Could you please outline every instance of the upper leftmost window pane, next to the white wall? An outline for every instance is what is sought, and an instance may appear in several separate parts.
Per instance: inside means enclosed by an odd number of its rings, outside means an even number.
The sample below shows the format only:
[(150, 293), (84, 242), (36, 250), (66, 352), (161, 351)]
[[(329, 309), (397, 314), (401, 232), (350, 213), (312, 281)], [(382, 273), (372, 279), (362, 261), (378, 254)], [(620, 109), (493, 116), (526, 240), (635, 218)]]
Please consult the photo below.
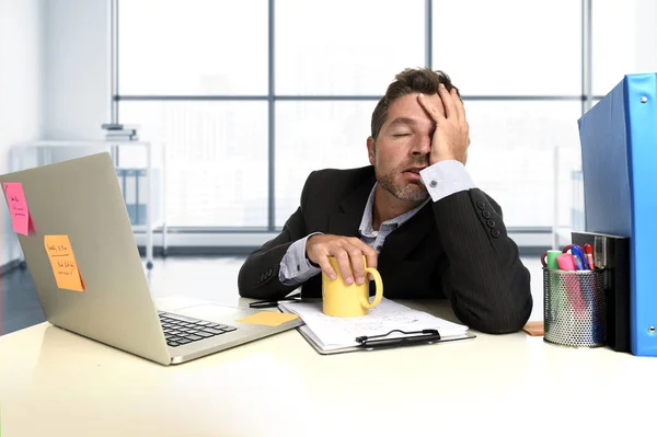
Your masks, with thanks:
[(119, 94), (267, 93), (267, 0), (129, 0), (118, 14)]

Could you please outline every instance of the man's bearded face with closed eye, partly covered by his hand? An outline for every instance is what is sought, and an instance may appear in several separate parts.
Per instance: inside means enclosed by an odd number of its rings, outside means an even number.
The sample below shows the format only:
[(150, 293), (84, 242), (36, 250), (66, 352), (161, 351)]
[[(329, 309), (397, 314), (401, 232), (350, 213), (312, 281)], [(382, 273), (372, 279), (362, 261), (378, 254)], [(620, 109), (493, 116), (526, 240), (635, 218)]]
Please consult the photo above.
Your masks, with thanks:
[[(419, 171), (429, 165), (431, 138), (436, 123), (417, 101), (417, 93), (395, 100), (388, 108), (388, 118), (379, 137), (368, 138), (369, 161), (374, 165), (377, 181), (394, 197), (422, 202), (428, 197)], [(442, 105), (439, 111), (445, 115)]]

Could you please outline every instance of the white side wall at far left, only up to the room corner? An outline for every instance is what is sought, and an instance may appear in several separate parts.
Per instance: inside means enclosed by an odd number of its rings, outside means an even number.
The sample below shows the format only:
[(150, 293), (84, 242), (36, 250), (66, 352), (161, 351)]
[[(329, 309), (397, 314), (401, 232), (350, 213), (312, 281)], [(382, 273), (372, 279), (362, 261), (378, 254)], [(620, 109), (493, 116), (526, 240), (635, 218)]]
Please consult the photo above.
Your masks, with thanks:
[[(0, 0), (0, 172), (13, 145), (39, 139), (44, 108), (45, 0)], [(4, 199), (0, 264), (19, 253)], [(12, 256), (13, 254), (13, 256)]]

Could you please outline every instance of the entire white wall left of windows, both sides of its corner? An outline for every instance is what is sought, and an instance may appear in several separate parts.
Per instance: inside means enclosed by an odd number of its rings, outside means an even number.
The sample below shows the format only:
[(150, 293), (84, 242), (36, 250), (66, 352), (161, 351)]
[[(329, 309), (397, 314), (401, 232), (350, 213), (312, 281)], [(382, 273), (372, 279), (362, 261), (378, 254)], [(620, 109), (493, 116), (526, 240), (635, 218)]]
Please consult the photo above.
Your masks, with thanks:
[[(101, 124), (111, 117), (110, 30), (111, 0), (0, 0), (0, 173), (9, 171), (14, 145), (103, 137)], [(54, 159), (87, 152), (61, 150)], [(1, 204), (5, 264), (20, 246)]]

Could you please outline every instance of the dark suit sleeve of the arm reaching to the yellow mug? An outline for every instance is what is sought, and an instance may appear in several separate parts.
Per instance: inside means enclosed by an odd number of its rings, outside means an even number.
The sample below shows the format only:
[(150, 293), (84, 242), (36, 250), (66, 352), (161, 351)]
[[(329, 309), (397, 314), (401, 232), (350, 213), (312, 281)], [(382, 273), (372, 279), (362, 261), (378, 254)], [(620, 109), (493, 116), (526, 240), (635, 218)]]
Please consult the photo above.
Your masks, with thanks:
[(290, 216), (281, 232), (262, 248), (252, 252), (238, 275), (238, 289), (241, 297), (255, 299), (280, 299), (298, 285), (284, 285), (279, 279), (280, 263), (290, 245), (308, 237), (303, 205), (308, 197), (309, 180), (301, 192), (301, 206)]

